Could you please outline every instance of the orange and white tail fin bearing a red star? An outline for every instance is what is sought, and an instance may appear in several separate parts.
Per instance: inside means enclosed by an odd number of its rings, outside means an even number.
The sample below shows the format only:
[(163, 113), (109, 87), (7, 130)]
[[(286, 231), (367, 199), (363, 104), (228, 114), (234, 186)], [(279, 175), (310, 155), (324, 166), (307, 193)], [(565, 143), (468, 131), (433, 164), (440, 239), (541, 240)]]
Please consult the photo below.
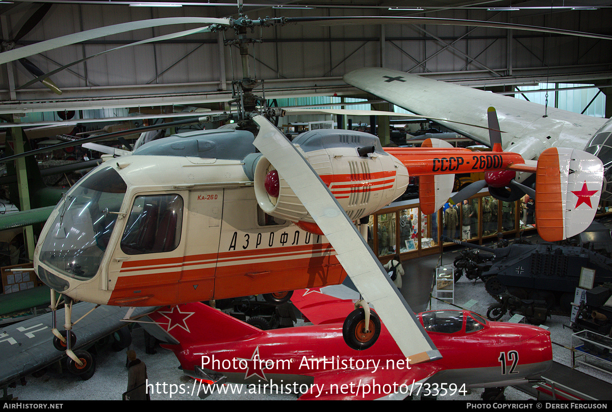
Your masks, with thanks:
[(543, 240), (559, 241), (591, 224), (602, 193), (603, 164), (577, 149), (551, 147), (537, 162), (535, 227)]

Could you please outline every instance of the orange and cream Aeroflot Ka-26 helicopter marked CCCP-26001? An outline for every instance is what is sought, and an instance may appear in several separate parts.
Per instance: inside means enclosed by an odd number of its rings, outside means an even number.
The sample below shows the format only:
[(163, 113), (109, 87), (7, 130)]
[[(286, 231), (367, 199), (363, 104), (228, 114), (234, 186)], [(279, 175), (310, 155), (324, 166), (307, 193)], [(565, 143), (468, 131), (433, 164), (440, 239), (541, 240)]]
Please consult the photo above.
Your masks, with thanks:
[[(68, 301), (165, 306), (340, 284), (348, 275), (365, 303), (347, 318), (347, 344), (373, 344), (378, 314), (405, 356), (429, 361), (438, 350), (354, 222), (400, 196), (411, 175), (424, 176), (420, 205), (429, 214), (449, 199), (455, 172), (535, 172), (547, 210), (536, 211), (536, 226), (547, 240), (580, 233), (599, 202), (602, 163), (578, 150), (550, 149), (536, 163), (498, 144), (490, 153), (435, 139), (383, 150), (375, 136), (346, 130), (289, 142), (265, 117), (253, 120), (257, 136), (230, 129), (170, 136), (76, 183), (35, 249), (34, 270), (52, 301), (61, 293)], [(65, 312), (56, 342), (79, 364)]]

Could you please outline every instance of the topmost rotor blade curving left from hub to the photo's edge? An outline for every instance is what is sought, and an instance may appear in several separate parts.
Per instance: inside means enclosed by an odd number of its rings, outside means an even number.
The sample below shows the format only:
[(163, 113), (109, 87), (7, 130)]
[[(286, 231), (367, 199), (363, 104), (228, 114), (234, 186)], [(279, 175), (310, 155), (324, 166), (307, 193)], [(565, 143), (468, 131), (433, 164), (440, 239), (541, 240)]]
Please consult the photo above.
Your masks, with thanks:
[(97, 39), (108, 35), (124, 33), (138, 29), (146, 29), (159, 26), (169, 26), (171, 24), (219, 24), (228, 26), (230, 20), (227, 18), (212, 18), (212, 17), (168, 17), (168, 18), (152, 18), (149, 20), (130, 21), (128, 23), (113, 24), (97, 29), (86, 30), (78, 33), (73, 33), (58, 37), (57, 39), (45, 40), (43, 42), (34, 43), (33, 45), (23, 46), (13, 50), (0, 53), (0, 64), (12, 62), (23, 57), (32, 56), (34, 54), (43, 53), (44, 51), (53, 50), (63, 46), (73, 45), (75, 43), (84, 42), (86, 40)]

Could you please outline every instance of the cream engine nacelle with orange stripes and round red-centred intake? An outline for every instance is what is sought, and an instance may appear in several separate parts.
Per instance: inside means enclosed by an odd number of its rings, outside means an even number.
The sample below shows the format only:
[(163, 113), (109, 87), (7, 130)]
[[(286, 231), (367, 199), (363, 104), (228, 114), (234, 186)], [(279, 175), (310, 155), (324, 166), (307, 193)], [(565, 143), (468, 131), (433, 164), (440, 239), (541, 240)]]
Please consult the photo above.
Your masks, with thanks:
[[(408, 185), (406, 167), (371, 134), (315, 130), (300, 134), (293, 144), (353, 221), (390, 204)], [(253, 183), (264, 212), (316, 233), (314, 219), (264, 156), (257, 161)]]

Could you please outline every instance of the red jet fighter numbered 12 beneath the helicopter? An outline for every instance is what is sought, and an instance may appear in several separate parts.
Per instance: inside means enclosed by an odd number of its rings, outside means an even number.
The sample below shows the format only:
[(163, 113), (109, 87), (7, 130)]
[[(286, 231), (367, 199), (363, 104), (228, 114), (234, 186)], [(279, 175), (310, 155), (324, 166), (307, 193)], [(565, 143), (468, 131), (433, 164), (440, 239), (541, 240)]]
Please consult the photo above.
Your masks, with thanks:
[(293, 296), (312, 326), (263, 331), (203, 303), (163, 307), (149, 315), (159, 328), (143, 326), (168, 342), (163, 346), (194, 378), (182, 390), (200, 397), (232, 391), (328, 400), (444, 397), (538, 380), (552, 363), (545, 329), (457, 310), (417, 315), (441, 359), (411, 364), (384, 325), (376, 345), (353, 350), (343, 340), (342, 323), (354, 301), (320, 289)]

